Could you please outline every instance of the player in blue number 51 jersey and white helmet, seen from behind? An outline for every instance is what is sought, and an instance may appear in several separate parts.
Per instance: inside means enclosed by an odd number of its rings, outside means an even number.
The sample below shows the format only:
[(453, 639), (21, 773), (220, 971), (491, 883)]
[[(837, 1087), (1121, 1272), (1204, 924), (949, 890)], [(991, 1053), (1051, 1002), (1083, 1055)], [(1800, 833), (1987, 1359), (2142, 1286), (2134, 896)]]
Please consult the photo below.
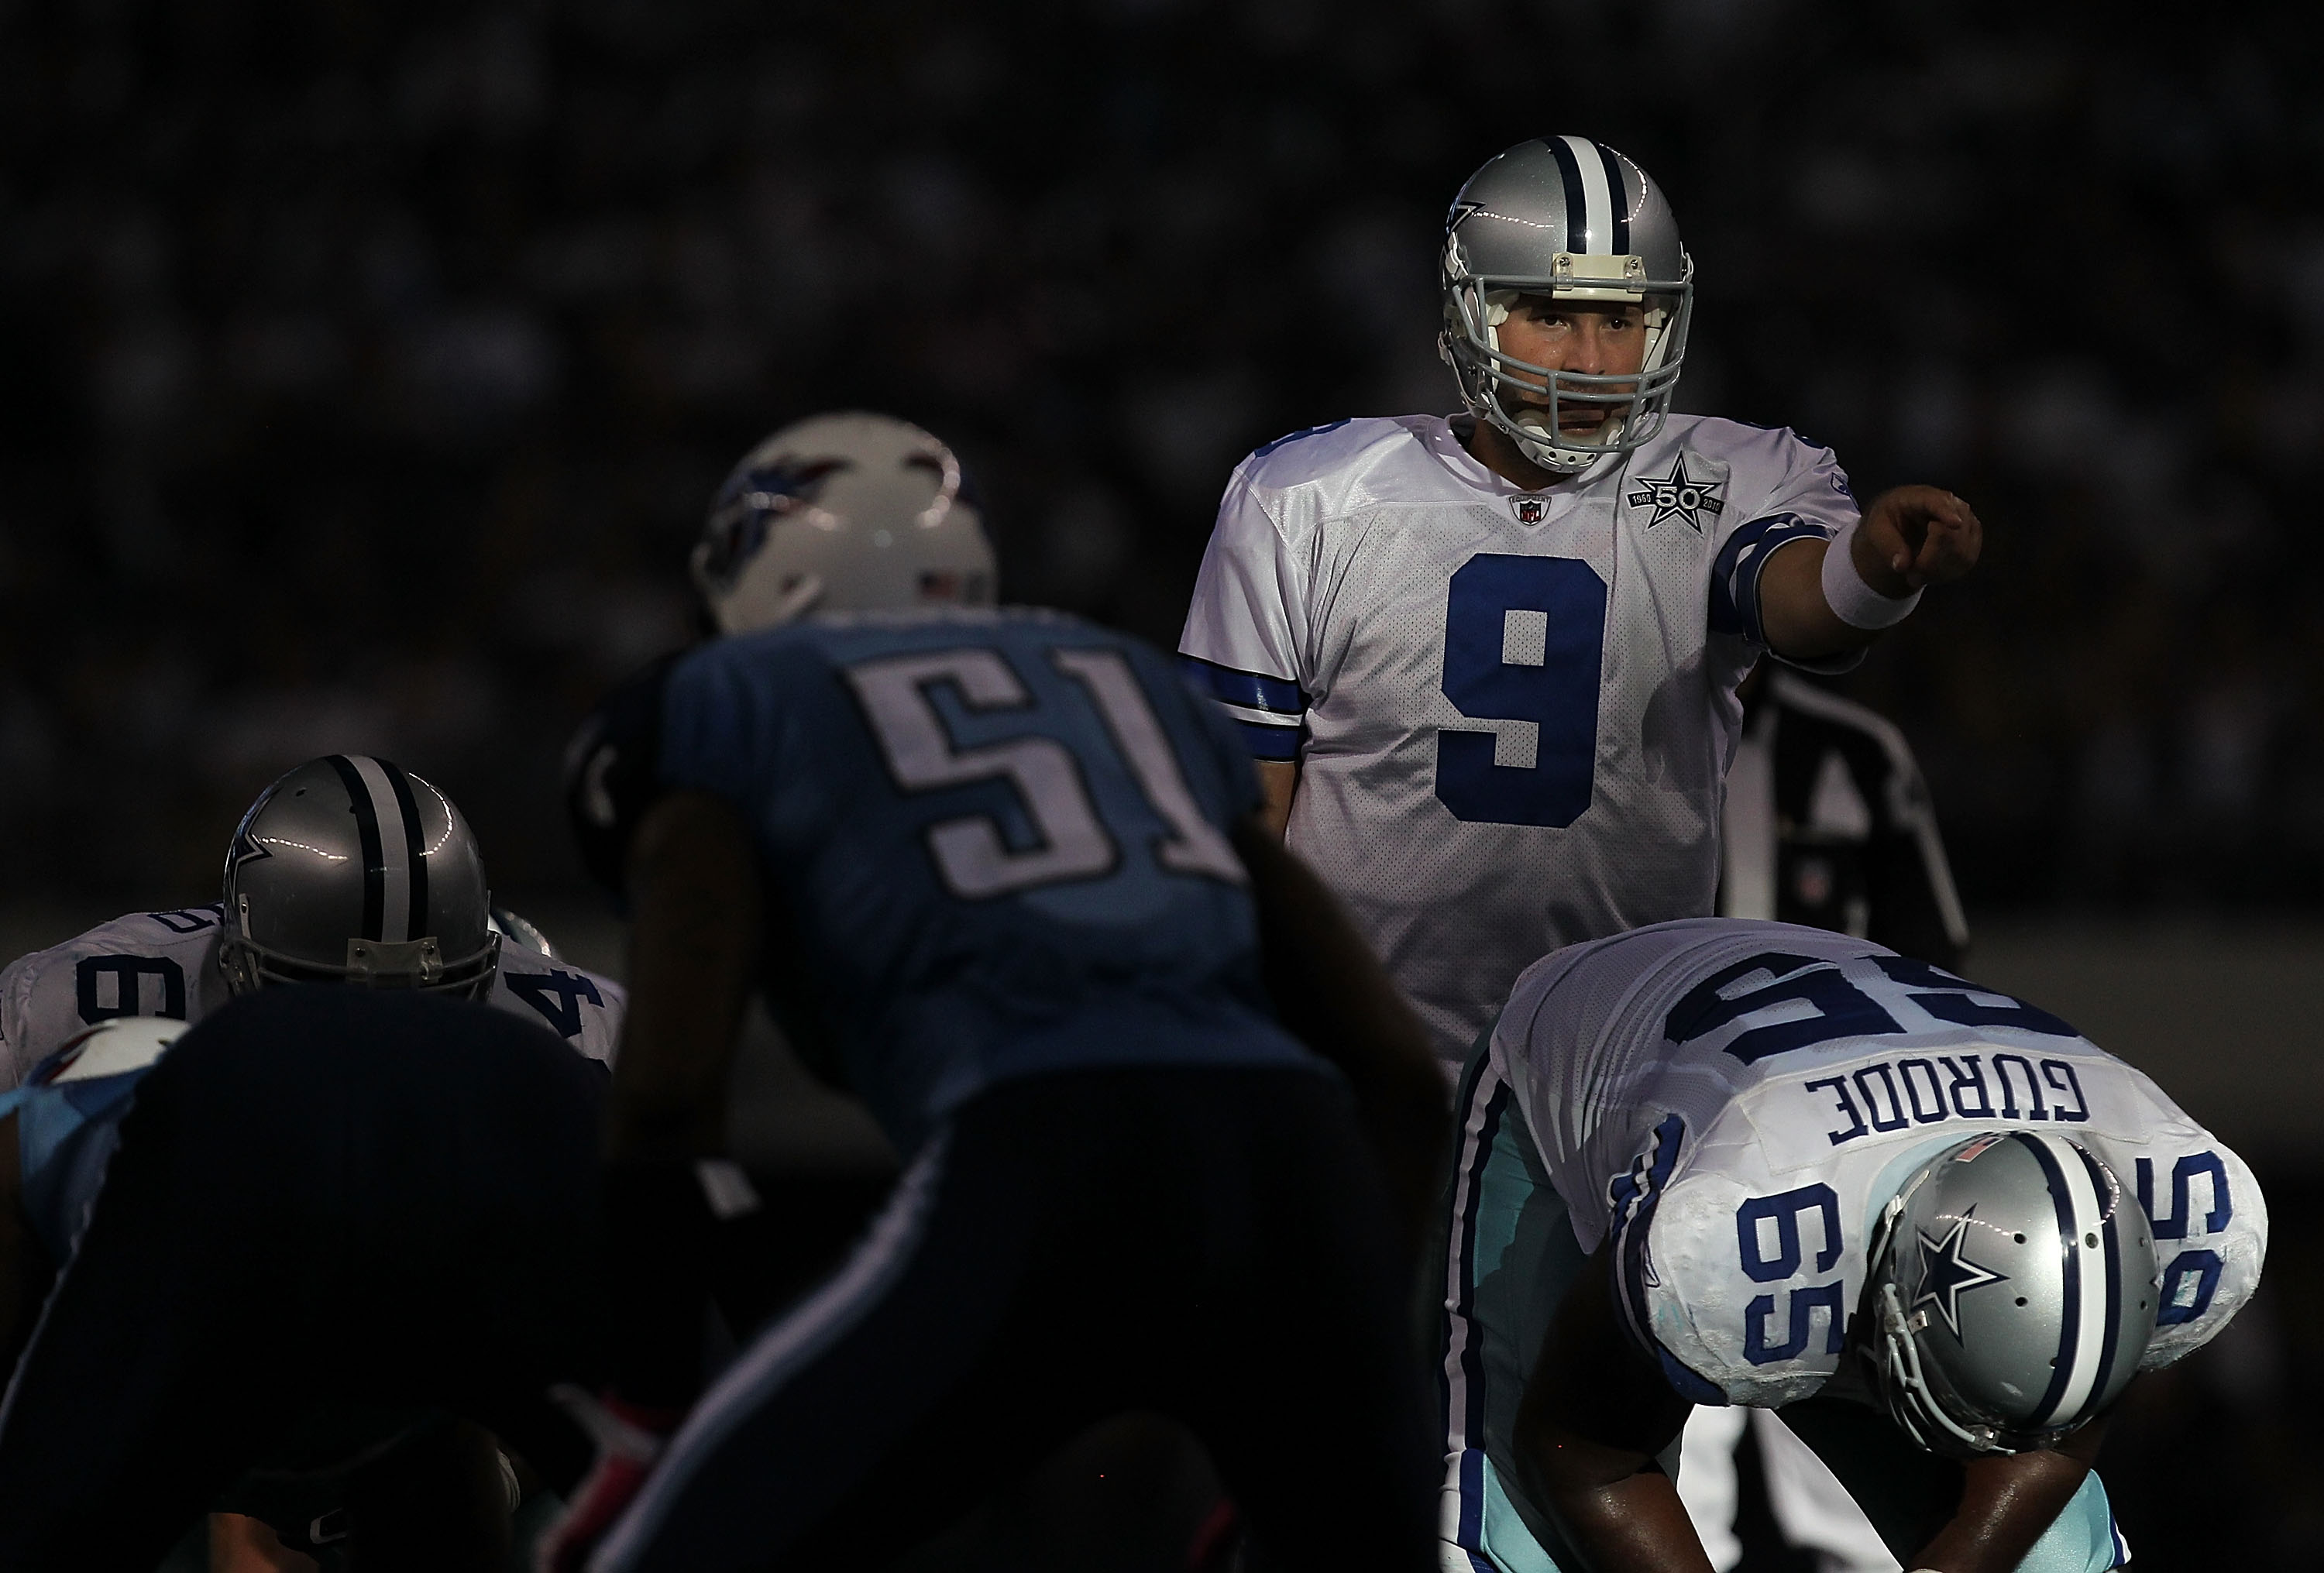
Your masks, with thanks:
[[(544, 1566), (600, 1536), (607, 1571), (876, 1566), (1146, 1408), (1283, 1566), (1418, 1573), (1434, 1471), (1362, 1136), (1425, 1197), (1425, 1029), (1162, 653), (990, 606), (957, 474), (881, 416), (753, 451), (697, 558), (725, 637), (660, 674), (651, 748), (576, 753), (630, 848), (632, 1011), (607, 1450)], [(753, 987), (909, 1166), (688, 1410)]]

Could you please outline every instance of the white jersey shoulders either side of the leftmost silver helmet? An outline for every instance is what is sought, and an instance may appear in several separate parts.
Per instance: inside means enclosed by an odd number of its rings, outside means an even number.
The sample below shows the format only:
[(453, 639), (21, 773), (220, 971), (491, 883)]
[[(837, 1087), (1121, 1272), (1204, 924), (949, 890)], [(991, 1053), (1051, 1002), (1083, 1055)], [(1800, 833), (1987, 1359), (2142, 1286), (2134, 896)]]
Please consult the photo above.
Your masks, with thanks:
[[(95, 1022), (114, 1015), (198, 1022), (223, 1006), (230, 994), (218, 969), (218, 913), (216, 902), (128, 913), (16, 957), (0, 971), (0, 1092)], [(502, 936), (488, 1004), (546, 1022), (581, 1055), (611, 1064), (627, 997), (611, 978)]]

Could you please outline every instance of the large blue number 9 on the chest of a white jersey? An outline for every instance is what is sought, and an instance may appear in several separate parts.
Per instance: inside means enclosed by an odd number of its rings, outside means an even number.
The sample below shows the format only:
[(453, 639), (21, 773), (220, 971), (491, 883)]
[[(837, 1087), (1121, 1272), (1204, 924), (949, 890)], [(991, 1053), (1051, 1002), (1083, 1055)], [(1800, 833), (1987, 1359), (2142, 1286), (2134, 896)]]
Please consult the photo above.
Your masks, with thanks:
[(1471, 720), (1529, 720), (1534, 762), (1492, 732), (1436, 734), (1436, 799), (1476, 825), (1571, 825), (1597, 774), (1606, 581), (1578, 558), (1478, 553), (1446, 595), (1443, 695)]

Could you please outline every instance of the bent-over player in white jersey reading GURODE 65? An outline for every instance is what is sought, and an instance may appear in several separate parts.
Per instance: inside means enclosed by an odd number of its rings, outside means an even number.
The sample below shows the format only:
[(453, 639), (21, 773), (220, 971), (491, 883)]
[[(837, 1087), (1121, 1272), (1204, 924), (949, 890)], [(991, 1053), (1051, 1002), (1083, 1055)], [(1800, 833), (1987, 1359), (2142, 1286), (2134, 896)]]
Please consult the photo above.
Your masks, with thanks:
[(2106, 1413), (2268, 1238), (2243, 1159), (2059, 1018), (1783, 922), (1541, 960), (1459, 1118), (1446, 1568), (1708, 1568), (1697, 1403), (1780, 1406), (1908, 1568), (2113, 1568)]

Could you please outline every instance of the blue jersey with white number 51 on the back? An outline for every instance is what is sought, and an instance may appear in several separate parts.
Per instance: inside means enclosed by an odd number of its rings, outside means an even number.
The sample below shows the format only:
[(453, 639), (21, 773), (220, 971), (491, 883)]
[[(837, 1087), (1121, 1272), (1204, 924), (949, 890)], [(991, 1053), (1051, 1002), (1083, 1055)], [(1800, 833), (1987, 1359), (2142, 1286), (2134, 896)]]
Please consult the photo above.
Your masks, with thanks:
[(786, 1025), (906, 1150), (1013, 1076), (1318, 1064), (1227, 843), (1248, 755), (1136, 639), (1020, 609), (720, 639), (669, 671), (658, 774), (748, 818)]

